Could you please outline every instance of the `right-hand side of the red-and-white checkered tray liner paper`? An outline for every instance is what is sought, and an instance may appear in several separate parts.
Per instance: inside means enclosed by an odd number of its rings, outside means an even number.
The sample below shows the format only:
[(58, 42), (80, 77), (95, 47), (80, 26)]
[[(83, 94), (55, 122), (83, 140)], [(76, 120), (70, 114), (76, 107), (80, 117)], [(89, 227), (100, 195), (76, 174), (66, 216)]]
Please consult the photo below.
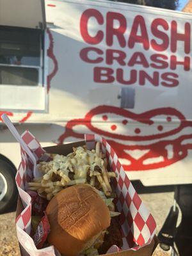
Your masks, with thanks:
[(96, 141), (100, 142), (102, 151), (106, 152), (108, 157), (110, 169), (118, 176), (115, 180), (115, 192), (118, 198), (116, 207), (121, 212), (120, 225), (124, 241), (122, 249), (138, 250), (152, 241), (156, 232), (156, 221), (136, 193), (124, 168), (118, 161), (115, 151), (108, 142), (96, 134), (86, 134), (85, 141), (89, 149), (95, 147)]

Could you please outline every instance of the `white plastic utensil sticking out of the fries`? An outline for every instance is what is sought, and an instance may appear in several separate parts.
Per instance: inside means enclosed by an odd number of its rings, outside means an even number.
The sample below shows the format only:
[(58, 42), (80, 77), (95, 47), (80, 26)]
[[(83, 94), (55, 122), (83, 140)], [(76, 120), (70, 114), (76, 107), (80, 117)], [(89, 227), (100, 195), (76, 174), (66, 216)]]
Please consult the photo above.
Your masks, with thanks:
[(22, 138), (20, 137), (19, 132), (15, 129), (14, 125), (12, 124), (12, 122), (10, 121), (8, 116), (6, 114), (3, 114), (1, 116), (1, 118), (2, 118), (2, 120), (4, 122), (4, 124), (6, 124), (6, 126), (10, 130), (10, 132), (12, 132), (13, 136), (15, 137), (15, 139), (20, 143), (20, 147), (22, 147), (22, 149), (28, 154), (28, 156), (30, 157), (31, 161), (33, 162), (33, 175), (34, 175), (34, 177), (41, 177), (42, 174), (40, 172), (38, 172), (38, 170), (36, 168), (35, 156), (33, 156), (33, 153), (29, 149), (28, 145), (25, 143), (24, 140), (22, 140)]

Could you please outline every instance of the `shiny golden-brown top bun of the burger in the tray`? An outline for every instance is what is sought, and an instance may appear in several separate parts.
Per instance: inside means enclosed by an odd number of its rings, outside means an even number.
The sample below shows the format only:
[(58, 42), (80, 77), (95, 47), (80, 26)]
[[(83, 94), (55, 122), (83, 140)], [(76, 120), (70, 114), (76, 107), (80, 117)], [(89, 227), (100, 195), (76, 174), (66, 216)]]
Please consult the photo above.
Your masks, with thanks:
[(110, 225), (108, 207), (88, 184), (61, 190), (45, 212), (51, 226), (48, 241), (65, 256), (79, 255)]

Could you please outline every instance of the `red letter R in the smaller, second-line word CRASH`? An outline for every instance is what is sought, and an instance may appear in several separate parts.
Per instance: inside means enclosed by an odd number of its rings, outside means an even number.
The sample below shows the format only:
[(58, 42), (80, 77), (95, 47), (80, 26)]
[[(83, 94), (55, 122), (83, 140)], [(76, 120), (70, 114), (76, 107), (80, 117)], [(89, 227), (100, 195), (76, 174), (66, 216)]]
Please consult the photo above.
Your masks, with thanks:
[(126, 54), (125, 52), (119, 51), (119, 50), (111, 50), (108, 49), (106, 51), (106, 63), (108, 65), (113, 64), (113, 61), (116, 60), (118, 62), (118, 64), (125, 66), (125, 58), (126, 58)]

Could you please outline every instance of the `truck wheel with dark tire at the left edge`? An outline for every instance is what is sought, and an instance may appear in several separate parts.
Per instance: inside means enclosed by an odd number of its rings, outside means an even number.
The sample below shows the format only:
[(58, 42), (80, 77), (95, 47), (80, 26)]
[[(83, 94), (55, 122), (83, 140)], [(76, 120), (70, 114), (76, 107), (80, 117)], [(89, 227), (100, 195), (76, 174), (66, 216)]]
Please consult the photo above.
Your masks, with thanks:
[(13, 166), (0, 159), (0, 214), (17, 202), (17, 186)]

